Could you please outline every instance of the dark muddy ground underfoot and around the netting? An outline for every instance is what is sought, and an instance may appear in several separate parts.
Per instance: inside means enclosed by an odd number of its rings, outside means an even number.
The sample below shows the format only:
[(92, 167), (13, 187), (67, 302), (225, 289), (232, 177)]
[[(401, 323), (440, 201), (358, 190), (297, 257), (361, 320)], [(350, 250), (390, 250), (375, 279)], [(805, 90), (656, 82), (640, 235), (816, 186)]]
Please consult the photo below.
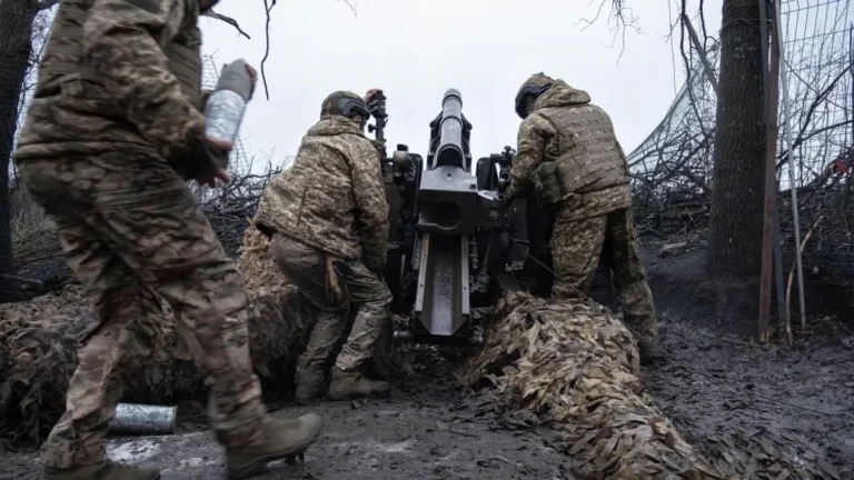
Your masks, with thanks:
[[(645, 367), (644, 374), (649, 393), (683, 434), (714, 454), (716, 442), (733, 434), (783, 431), (792, 443), (811, 443), (838, 478), (854, 478), (854, 322), (845, 318), (845, 309), (811, 318), (807, 330), (795, 331), (792, 348), (778, 336), (769, 346), (758, 346), (752, 340), (755, 318), (731, 318), (723, 324), (713, 320), (701, 284), (702, 246), (667, 259), (657, 252), (658, 247), (645, 248), (644, 261), (667, 359)], [(312, 407), (326, 417), (327, 429), (305, 464), (274, 466), (260, 478), (573, 478), (569, 459), (536, 433), (454, 408), (465, 393), (436, 380), (407, 390), (386, 400)], [(272, 404), (285, 407), (278, 414), (306, 410), (287, 401)], [(179, 410), (180, 434), (113, 439), (111, 454), (161, 466), (165, 479), (224, 478), (221, 452), (201, 430), (200, 406)], [(804, 461), (813, 460), (808, 457)], [(0, 478), (34, 479), (38, 473), (36, 453), (0, 453)]]

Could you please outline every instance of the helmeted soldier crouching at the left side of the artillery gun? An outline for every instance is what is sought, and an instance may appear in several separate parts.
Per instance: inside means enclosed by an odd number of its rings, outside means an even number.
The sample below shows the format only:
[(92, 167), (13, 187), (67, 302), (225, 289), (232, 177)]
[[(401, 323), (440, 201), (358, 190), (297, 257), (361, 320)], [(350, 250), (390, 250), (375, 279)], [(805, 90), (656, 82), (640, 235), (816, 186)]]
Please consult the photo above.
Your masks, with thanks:
[(302, 138), (292, 167), (261, 194), (255, 219), (272, 239), (281, 271), (317, 311), (297, 364), (296, 398), (302, 403), (324, 393), (326, 366), (344, 334), (350, 303), (358, 313), (335, 360), (328, 394), (345, 399), (389, 390), (363, 371), (391, 303), (383, 280), (388, 203), (379, 154), (364, 133), (370, 116), (366, 103), (346, 91), (324, 100), (320, 121)]

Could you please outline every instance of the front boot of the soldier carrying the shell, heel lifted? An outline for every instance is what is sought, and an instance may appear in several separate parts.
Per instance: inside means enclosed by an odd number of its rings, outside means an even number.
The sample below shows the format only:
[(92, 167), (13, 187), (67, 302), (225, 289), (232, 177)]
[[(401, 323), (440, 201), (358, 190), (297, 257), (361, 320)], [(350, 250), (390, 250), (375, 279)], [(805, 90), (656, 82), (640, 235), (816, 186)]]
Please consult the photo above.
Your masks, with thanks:
[(320, 436), (321, 423), (317, 413), (296, 419), (268, 417), (258, 440), (226, 451), (229, 480), (260, 473), (271, 461), (301, 456)]

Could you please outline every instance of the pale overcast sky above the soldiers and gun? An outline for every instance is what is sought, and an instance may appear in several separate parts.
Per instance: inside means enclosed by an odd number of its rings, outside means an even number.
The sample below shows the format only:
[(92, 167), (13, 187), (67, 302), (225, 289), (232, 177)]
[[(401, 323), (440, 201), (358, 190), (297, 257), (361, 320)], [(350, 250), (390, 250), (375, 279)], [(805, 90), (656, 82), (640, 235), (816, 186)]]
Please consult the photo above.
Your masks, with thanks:
[[(678, 50), (665, 38), (677, 11), (667, 1), (673, 0), (628, 1), (642, 33), (626, 33), (620, 58), (620, 40), (612, 46), (607, 7), (582, 31), (599, 0), (354, 0), (357, 14), (339, 0), (279, 0), (266, 63), (270, 99), (259, 81), (241, 129), (245, 147), (281, 162), (296, 153), (327, 94), (364, 94), (376, 87), (388, 98), (389, 146), (406, 143), (426, 154), (428, 123), (445, 90), (456, 88), (474, 124), (477, 159), (505, 144), (515, 148), (516, 90), (544, 71), (586, 90), (612, 116), (628, 153), (655, 128), (682, 84)], [(716, 36), (721, 0), (705, 4), (708, 33)], [(221, 0), (216, 10), (235, 18), (251, 40), (205, 19), (205, 52), (219, 63), (245, 58), (260, 67), (262, 1)]]

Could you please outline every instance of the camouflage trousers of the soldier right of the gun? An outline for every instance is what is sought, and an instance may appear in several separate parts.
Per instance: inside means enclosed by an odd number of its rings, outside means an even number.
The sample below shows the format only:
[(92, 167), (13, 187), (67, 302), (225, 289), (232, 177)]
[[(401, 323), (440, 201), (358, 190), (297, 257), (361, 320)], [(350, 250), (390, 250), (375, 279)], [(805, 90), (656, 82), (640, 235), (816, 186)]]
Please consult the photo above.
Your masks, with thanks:
[(626, 324), (646, 340), (657, 342), (658, 317), (637, 254), (637, 236), (628, 209), (555, 223), (552, 261), (559, 278), (555, 278), (552, 297), (588, 294), (600, 256), (614, 272)]

